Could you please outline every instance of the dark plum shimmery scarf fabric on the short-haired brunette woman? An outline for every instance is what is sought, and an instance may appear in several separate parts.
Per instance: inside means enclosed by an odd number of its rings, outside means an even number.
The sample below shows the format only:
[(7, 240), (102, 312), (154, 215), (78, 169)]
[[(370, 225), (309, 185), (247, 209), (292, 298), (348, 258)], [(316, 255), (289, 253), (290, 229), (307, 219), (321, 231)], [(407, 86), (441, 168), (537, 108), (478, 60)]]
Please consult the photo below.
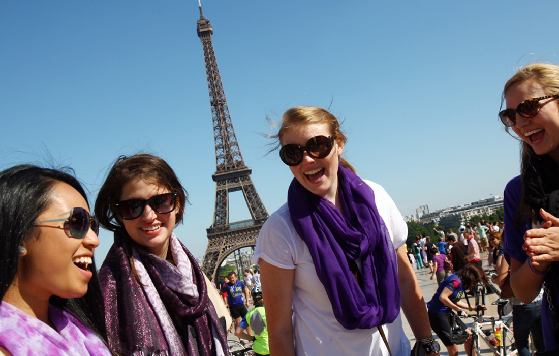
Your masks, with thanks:
[[(207, 294), (202, 270), (186, 247), (180, 242), (179, 244), (192, 266), (196, 296), (175, 291), (174, 289), (179, 288), (168, 284), (168, 278), (164, 276), (165, 273), (172, 273), (164, 265), (167, 261), (134, 244), (137, 256), (168, 314), (173, 318), (174, 324), (182, 326), (182, 331), (178, 332), (180, 340), (176, 341), (165, 339), (164, 326), (160, 321), (163, 316), (146, 298), (145, 287), (134, 277), (128, 259), (131, 251), (126, 254), (131, 246), (127, 247), (125, 238), (115, 233), (115, 242), (99, 271), (99, 279), (105, 298), (108, 339), (117, 352), (126, 355), (170, 354), (172, 348), (169, 343), (178, 342), (180, 345), (182, 342), (180, 346), (189, 356), (214, 356), (218, 348), (223, 350), (223, 354), (228, 354), (225, 334)], [(215, 342), (214, 336), (217, 336), (219, 343)]]

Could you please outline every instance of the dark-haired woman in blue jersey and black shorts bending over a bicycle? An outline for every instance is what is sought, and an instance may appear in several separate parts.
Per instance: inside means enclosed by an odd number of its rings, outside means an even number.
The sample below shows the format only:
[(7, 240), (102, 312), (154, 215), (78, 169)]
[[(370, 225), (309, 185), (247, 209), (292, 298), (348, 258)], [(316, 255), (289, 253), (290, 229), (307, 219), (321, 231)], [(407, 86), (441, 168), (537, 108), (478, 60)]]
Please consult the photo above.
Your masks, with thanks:
[[(433, 298), (427, 303), (431, 328), (435, 334), (439, 336), (444, 346), (446, 346), (449, 356), (458, 355), (458, 345), (454, 344), (449, 338), (449, 334), (452, 330), (452, 311), (456, 311), (458, 315), (465, 315), (463, 309), (469, 311), (475, 311), (477, 309), (487, 310), (485, 305), (470, 306), (460, 300), (464, 293), (473, 291), (479, 283), (485, 285), (489, 283), (484, 270), (475, 264), (467, 264), (457, 273), (451, 274), (444, 279), (443, 283), (437, 288), (437, 292), (434, 294)], [(471, 334), (469, 329), (468, 332)], [(470, 356), (471, 352), (471, 343), (472, 338), (470, 337), (464, 344), (468, 356)]]

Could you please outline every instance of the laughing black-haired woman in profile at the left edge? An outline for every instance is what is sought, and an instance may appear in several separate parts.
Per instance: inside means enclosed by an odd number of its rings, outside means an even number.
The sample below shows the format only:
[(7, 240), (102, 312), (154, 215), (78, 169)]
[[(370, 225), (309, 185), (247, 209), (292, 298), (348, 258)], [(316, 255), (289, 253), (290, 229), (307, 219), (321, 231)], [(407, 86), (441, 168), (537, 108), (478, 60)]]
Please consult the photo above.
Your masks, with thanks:
[(110, 355), (82, 186), (21, 165), (0, 172), (0, 191), (0, 354)]

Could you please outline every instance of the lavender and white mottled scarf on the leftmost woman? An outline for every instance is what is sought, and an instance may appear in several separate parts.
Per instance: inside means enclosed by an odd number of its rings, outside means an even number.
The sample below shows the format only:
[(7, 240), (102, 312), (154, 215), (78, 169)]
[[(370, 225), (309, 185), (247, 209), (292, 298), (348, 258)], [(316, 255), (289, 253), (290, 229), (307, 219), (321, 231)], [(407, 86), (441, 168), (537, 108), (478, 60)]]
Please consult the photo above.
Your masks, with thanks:
[(111, 355), (99, 336), (69, 312), (50, 305), (49, 320), (56, 330), (10, 303), (1, 302), (0, 345), (14, 356)]

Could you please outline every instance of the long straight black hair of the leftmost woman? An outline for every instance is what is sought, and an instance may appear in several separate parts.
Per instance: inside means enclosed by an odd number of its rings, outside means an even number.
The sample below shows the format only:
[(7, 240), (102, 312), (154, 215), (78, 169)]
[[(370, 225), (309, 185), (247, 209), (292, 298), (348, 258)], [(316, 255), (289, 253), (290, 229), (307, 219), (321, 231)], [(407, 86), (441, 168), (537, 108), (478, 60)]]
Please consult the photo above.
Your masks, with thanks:
[[(68, 171), (71, 170), (68, 168)], [(0, 172), (0, 299), (16, 277), (19, 246), (39, 236), (39, 229), (33, 222), (49, 207), (58, 182), (72, 186), (87, 202), (82, 185), (67, 172), (32, 165), (19, 165)], [(52, 296), (49, 302), (72, 312), (106, 343), (105, 312), (95, 261), (91, 271), (93, 277), (85, 296), (71, 299)]]

